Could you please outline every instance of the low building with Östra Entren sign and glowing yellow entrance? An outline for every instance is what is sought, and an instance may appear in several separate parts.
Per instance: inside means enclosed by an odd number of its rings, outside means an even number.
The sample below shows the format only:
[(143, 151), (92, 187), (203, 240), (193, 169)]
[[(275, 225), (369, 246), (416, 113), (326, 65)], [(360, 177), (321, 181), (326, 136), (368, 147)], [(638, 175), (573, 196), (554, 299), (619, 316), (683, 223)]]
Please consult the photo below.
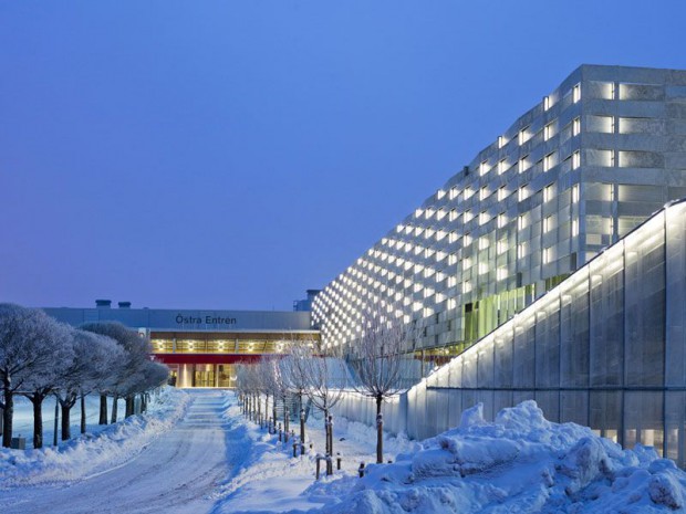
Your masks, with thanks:
[(310, 312), (187, 311), (131, 308), (108, 300), (94, 308), (44, 308), (58, 321), (79, 326), (115, 321), (148, 336), (156, 360), (165, 363), (178, 387), (232, 387), (233, 366), (280, 354), (293, 340), (319, 343)]

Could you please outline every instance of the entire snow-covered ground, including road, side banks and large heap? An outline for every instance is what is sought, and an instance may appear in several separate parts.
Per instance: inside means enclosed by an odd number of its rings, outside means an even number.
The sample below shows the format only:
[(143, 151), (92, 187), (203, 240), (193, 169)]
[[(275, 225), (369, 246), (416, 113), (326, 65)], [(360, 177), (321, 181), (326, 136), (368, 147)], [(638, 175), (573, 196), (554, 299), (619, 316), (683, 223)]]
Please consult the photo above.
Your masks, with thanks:
[[(297, 426), (293, 426), (298, 430)], [(585, 427), (547, 421), (533, 401), (422, 442), (335, 420), (343, 469), (314, 480), (314, 450), (292, 457), (240, 416), (232, 392), (167, 390), (148, 413), (60, 449), (0, 451), (1, 513), (686, 513), (686, 473), (649, 448), (624, 451)], [(323, 468), (322, 468), (323, 471)]]

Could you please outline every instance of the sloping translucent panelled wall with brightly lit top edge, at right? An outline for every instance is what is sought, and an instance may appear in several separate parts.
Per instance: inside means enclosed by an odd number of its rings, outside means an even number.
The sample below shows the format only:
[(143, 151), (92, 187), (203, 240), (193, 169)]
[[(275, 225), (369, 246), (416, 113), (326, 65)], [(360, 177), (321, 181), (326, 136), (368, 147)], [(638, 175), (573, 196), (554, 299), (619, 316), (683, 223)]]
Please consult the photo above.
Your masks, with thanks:
[[(426, 438), (484, 402), (536, 399), (555, 422), (686, 464), (686, 202), (655, 214), (412, 388), (387, 426)], [(355, 419), (360, 400), (341, 408)]]

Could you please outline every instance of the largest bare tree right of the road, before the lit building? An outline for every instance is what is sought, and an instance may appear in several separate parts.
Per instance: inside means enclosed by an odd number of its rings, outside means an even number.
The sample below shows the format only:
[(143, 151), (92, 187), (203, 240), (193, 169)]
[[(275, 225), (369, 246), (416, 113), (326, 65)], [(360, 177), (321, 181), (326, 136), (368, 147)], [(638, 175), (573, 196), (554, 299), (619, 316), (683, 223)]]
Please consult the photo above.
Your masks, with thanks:
[(362, 336), (350, 348), (355, 370), (354, 389), (376, 402), (376, 462), (384, 462), (382, 405), (403, 389), (403, 369), (415, 337), (414, 325), (404, 323), (402, 310), (380, 305), (362, 318)]

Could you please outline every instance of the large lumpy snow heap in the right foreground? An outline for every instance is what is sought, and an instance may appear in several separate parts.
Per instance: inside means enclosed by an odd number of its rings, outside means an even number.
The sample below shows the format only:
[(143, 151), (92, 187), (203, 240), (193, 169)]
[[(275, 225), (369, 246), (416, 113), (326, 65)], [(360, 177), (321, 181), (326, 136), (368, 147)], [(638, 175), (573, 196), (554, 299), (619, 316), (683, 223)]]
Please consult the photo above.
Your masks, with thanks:
[(686, 473), (652, 448), (622, 450), (589, 428), (549, 422), (526, 401), (492, 423), (478, 405), (394, 464), (303, 494), (335, 514), (686, 512)]

